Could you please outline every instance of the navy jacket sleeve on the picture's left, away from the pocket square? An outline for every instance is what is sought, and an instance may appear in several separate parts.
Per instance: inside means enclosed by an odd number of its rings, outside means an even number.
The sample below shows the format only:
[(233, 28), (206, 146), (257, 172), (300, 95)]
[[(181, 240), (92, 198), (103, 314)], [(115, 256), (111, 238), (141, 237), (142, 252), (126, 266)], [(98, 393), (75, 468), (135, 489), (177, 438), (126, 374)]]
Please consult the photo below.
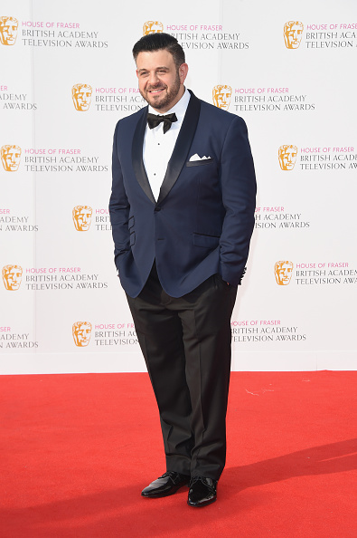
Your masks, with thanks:
[(114, 132), (113, 158), (112, 158), (112, 189), (109, 200), (109, 215), (114, 240), (114, 260), (119, 269), (121, 258), (130, 252), (130, 234), (128, 218), (130, 205), (127, 199), (123, 182), (123, 174), (117, 153), (117, 131), (119, 121)]

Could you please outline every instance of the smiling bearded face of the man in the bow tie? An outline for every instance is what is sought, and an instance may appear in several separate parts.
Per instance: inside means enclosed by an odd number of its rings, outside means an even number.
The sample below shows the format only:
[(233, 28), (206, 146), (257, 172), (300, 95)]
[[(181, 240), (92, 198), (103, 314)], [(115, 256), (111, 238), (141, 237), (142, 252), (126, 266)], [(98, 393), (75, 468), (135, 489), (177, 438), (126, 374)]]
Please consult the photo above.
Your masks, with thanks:
[(172, 109), (182, 98), (187, 72), (187, 63), (177, 68), (173, 55), (166, 50), (138, 53), (136, 58), (139, 91), (146, 102), (160, 113)]

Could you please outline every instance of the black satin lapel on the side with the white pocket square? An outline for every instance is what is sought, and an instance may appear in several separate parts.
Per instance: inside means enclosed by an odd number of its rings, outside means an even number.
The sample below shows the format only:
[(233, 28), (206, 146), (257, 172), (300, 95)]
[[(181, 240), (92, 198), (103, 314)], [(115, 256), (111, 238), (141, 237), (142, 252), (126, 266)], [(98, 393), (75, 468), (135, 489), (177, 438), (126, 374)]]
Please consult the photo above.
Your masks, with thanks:
[(157, 200), (158, 204), (164, 200), (164, 197), (166, 197), (170, 190), (174, 187), (174, 184), (177, 181), (177, 178), (179, 177), (180, 172), (187, 160), (188, 152), (193, 142), (193, 136), (200, 116), (201, 101), (193, 95), (192, 91), (190, 91), (190, 93), (191, 98), (184, 115), (183, 125), (174, 146), (173, 155), (171, 156), (171, 159), (167, 165), (164, 181), (160, 189), (159, 198)]

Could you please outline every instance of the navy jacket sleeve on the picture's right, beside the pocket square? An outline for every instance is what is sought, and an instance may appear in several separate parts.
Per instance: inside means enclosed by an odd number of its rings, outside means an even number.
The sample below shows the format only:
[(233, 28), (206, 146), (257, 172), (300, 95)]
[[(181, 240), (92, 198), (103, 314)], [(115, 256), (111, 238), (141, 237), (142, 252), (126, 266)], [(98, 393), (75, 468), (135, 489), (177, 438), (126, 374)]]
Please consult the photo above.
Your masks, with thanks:
[(223, 143), (221, 189), (226, 212), (220, 239), (221, 276), (239, 285), (249, 255), (257, 191), (247, 126), (239, 116), (232, 120)]

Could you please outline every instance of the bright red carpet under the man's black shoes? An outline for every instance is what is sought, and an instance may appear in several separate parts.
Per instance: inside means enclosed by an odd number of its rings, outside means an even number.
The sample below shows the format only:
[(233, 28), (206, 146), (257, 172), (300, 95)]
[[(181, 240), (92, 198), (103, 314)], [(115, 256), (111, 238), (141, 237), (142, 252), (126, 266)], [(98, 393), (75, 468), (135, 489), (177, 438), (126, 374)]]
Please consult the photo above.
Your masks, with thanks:
[(355, 538), (356, 385), (233, 373), (218, 501), (194, 509), (140, 496), (164, 472), (146, 374), (0, 377), (0, 535)]

